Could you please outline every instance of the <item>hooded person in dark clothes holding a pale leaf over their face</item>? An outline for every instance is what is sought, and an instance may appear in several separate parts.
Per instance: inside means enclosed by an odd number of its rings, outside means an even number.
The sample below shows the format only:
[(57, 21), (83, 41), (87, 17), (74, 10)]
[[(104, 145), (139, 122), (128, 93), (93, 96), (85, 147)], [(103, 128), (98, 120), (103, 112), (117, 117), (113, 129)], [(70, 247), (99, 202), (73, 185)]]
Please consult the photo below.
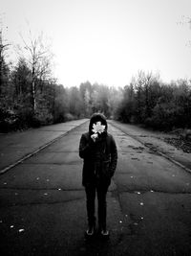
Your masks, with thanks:
[(107, 131), (107, 121), (103, 114), (95, 113), (90, 119), (89, 131), (81, 135), (79, 156), (83, 158), (82, 185), (86, 192), (88, 215), (87, 236), (96, 232), (95, 199), (98, 201), (98, 232), (108, 236), (106, 227), (106, 195), (111, 178), (117, 168), (117, 145)]

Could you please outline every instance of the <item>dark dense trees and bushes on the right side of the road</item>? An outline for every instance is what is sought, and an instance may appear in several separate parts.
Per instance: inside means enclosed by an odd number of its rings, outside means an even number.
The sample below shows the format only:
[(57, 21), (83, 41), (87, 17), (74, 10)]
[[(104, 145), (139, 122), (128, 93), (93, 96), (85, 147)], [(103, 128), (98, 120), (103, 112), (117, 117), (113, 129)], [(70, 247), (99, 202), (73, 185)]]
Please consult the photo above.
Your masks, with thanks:
[(117, 119), (160, 130), (191, 128), (191, 81), (164, 83), (152, 72), (138, 71), (124, 87)]

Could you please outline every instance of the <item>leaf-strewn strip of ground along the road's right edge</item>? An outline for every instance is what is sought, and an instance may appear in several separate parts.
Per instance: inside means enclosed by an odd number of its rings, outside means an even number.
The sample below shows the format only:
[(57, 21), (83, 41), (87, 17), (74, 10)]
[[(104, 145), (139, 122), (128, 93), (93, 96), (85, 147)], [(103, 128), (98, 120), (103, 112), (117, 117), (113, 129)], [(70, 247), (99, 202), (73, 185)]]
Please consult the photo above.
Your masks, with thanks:
[(191, 143), (187, 139), (181, 138), (178, 134), (149, 130), (117, 121), (109, 121), (109, 123), (134, 137), (144, 146), (159, 151), (191, 173)]

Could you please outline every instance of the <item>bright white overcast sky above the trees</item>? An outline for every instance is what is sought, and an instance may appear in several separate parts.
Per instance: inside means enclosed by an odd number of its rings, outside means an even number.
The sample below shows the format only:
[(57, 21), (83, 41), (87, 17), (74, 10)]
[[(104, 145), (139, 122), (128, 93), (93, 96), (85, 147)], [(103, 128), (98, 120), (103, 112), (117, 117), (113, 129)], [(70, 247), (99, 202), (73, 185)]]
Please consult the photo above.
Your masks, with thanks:
[(27, 23), (51, 38), (65, 86), (124, 86), (138, 70), (167, 82), (191, 78), (190, 0), (0, 0), (0, 13), (13, 43), (29, 35)]

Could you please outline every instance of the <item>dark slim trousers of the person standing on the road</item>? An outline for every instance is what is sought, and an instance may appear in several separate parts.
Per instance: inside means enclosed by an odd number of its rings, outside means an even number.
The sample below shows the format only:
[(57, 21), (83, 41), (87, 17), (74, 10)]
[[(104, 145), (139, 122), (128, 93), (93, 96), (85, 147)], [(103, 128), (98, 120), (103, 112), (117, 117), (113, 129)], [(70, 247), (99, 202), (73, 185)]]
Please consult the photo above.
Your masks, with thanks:
[(95, 199), (98, 202), (98, 226), (99, 229), (106, 229), (107, 203), (106, 195), (108, 185), (105, 184), (89, 184), (85, 186), (86, 191), (86, 207), (88, 215), (88, 223), (90, 226), (96, 224), (95, 217)]

